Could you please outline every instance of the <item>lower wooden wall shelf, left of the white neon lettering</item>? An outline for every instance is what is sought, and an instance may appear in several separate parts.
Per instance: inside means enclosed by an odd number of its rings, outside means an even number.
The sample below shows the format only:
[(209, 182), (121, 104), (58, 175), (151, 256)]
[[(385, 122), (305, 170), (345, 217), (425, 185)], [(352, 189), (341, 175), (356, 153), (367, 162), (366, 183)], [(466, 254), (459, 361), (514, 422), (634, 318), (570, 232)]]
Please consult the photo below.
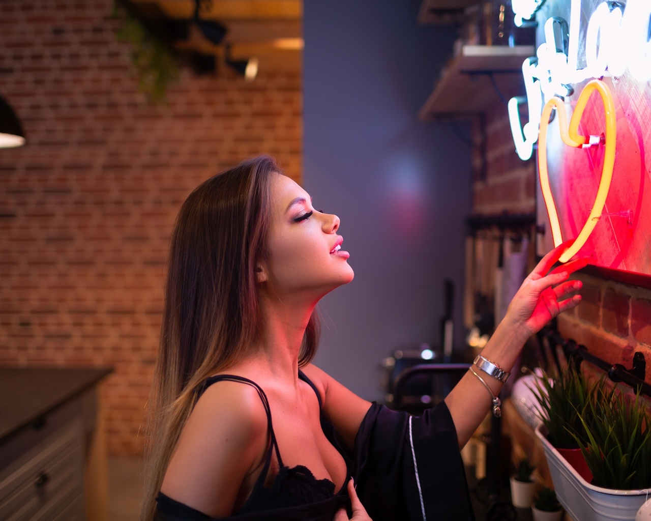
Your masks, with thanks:
[(534, 46), (463, 46), (441, 72), (441, 79), (422, 106), (419, 119), (477, 115), (499, 103), (490, 72), (507, 100), (523, 96), (522, 63), (535, 53)]

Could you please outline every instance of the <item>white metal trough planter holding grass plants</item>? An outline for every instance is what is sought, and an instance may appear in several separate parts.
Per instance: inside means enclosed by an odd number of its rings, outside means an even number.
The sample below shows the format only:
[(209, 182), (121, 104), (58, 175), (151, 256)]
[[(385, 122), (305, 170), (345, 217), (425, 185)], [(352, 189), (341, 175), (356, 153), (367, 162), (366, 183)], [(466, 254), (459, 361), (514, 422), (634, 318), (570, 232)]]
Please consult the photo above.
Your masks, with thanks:
[(613, 490), (590, 485), (547, 441), (543, 425), (536, 428), (554, 482), (556, 496), (570, 516), (580, 521), (633, 521), (648, 490)]

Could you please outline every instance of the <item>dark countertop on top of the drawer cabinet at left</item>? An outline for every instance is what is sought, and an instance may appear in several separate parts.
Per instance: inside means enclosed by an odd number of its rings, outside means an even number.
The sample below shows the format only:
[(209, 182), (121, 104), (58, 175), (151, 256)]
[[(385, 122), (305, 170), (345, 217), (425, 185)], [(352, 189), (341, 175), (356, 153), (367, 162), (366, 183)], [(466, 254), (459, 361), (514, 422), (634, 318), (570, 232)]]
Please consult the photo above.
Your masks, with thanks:
[(111, 371), (0, 367), (0, 440), (94, 386)]

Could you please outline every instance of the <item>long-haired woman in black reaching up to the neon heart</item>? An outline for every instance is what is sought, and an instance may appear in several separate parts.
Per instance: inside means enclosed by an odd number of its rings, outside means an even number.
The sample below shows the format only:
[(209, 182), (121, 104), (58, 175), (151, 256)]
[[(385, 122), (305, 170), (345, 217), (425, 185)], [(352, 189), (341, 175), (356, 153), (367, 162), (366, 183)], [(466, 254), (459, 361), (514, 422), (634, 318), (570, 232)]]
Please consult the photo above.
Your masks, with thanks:
[(338, 228), (266, 156), (206, 180), (182, 205), (143, 519), (472, 518), (459, 449), (497, 405), (497, 367), (508, 371), (530, 335), (579, 303), (562, 298), (581, 287), (566, 279), (585, 262), (546, 275), (564, 247), (549, 253), (484, 348), (486, 361), (411, 418), (309, 363), (316, 303), (353, 279)]

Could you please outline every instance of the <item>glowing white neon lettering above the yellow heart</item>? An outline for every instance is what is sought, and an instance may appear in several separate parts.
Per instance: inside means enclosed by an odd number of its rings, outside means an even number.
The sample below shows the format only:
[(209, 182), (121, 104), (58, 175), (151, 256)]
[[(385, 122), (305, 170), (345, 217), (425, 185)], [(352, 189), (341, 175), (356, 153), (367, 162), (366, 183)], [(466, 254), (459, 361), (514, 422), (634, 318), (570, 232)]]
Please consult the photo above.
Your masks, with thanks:
[[(516, 24), (531, 18), (539, 4), (535, 0), (514, 1)], [(527, 96), (508, 102), (511, 132), (521, 160), (531, 158), (543, 105), (554, 96), (568, 96), (573, 83), (606, 74), (621, 76), (627, 69), (638, 81), (651, 78), (651, 1), (629, 0), (625, 8), (605, 1), (594, 10), (585, 38), (585, 68), (578, 68), (577, 64), (580, 19), (581, 0), (572, 0), (570, 24), (562, 18), (549, 18), (544, 27), (545, 42), (538, 47), (536, 57), (527, 58), (522, 64)], [(525, 102), (529, 122), (522, 125), (519, 106)]]

